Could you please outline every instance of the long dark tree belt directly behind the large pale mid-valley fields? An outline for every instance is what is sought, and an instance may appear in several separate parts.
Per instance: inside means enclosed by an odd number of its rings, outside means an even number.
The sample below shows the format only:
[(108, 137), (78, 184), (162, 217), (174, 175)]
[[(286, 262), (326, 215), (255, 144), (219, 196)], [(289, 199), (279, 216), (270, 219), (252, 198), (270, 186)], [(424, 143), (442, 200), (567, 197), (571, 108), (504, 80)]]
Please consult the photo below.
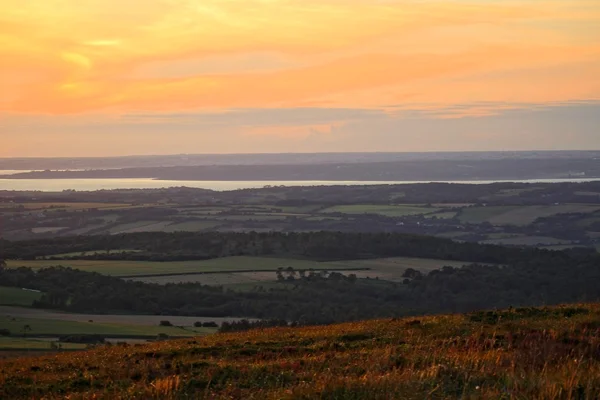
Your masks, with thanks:
[[(227, 256), (280, 256), (311, 260), (417, 257), (478, 263), (511, 263), (542, 256), (547, 251), (507, 249), (496, 245), (460, 243), (450, 239), (400, 233), (220, 233), (146, 232), (73, 236), (0, 243), (6, 259), (27, 260), (61, 253), (95, 252), (88, 259), (185, 261)], [(2, 248), (0, 247), (0, 248)], [(118, 249), (138, 251), (121, 254)], [(580, 250), (593, 253), (591, 250)], [(552, 257), (566, 257), (555, 252)], [(57, 262), (58, 264), (58, 262)]]

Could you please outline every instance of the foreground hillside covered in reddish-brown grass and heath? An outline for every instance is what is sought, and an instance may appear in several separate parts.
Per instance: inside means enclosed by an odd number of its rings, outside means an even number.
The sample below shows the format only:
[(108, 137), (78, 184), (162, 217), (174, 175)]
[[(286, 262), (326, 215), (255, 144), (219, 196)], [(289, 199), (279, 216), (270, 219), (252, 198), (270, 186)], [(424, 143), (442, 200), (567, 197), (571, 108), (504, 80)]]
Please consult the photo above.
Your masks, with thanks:
[(277, 328), (0, 362), (0, 399), (600, 398), (600, 304)]

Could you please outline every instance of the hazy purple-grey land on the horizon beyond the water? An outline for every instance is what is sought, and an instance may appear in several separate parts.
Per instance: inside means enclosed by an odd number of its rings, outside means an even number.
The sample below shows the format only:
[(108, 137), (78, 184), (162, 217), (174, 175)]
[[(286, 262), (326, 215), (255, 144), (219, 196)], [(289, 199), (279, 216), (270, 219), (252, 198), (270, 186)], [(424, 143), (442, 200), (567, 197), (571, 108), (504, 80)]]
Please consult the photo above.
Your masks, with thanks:
[(452, 181), (600, 178), (600, 151), (207, 154), (0, 159), (2, 179)]

